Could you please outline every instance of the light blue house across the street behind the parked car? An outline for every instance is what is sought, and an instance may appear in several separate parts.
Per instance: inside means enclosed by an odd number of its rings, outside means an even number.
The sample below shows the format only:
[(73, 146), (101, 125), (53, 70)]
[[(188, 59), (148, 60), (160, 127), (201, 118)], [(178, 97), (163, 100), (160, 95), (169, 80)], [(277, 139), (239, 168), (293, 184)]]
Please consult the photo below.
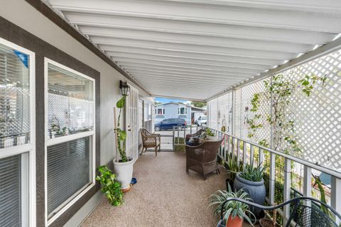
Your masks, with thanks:
[(191, 123), (192, 108), (188, 104), (168, 102), (155, 106), (155, 123), (168, 118), (184, 118), (186, 123)]

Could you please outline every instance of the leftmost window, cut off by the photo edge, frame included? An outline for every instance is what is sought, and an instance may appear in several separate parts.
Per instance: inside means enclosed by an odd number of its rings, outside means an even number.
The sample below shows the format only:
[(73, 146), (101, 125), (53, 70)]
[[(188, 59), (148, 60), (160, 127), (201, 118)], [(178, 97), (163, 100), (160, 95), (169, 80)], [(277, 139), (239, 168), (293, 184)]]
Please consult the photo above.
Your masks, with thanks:
[(0, 226), (36, 226), (35, 54), (0, 38)]

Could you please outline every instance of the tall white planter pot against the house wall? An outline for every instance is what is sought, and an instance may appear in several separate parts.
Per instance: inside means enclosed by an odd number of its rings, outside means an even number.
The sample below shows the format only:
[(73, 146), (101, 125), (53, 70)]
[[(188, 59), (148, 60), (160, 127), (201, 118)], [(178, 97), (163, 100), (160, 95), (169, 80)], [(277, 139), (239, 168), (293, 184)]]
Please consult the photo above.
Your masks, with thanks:
[(134, 160), (127, 157), (129, 162), (116, 162), (114, 159), (114, 172), (117, 175), (117, 181), (121, 183), (121, 189), (130, 187), (131, 178), (133, 177), (133, 164)]

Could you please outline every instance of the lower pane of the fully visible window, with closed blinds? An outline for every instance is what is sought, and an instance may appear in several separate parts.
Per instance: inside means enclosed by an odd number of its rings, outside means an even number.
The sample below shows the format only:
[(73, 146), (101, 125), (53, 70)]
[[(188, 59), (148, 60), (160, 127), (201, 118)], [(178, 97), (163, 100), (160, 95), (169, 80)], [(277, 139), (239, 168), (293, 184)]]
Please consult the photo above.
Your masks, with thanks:
[(90, 137), (48, 147), (48, 216), (90, 184)]

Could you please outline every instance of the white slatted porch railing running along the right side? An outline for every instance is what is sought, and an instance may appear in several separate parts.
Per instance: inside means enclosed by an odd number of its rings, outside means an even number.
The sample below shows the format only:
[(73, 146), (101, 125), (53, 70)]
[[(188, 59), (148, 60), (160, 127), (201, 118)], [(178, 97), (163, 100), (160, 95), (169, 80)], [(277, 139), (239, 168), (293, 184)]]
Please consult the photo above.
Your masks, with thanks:
[[(303, 186), (303, 196), (312, 196), (312, 170), (318, 170), (330, 175), (330, 205), (337, 212), (341, 213), (341, 172), (316, 165), (315, 163), (308, 162), (307, 160), (303, 160), (299, 157), (293, 157), (291, 155), (266, 148), (249, 140), (229, 135), (222, 131), (217, 131), (214, 128), (210, 129), (217, 134), (218, 138), (224, 139), (218, 152), (218, 155), (222, 160), (226, 161), (227, 158), (234, 155), (234, 157), (237, 157), (237, 163), (239, 165), (251, 163), (267, 165), (266, 171), (267, 175), (269, 175), (269, 181), (267, 182), (268, 185), (266, 185), (266, 188), (269, 189), (267, 194), (267, 201), (269, 204), (274, 204), (275, 196), (278, 196), (275, 194), (275, 184), (276, 177), (279, 177), (279, 171), (282, 171), (280, 175), (283, 177), (281, 180), (281, 185), (283, 184), (283, 201), (291, 199), (293, 193), (293, 177), (291, 176), (293, 173), (292, 167), (293, 165), (296, 165), (296, 167), (300, 166), (303, 168), (303, 176), (301, 176), (301, 179), (303, 179), (303, 185), (301, 185)], [(283, 167), (283, 170), (276, 170), (276, 168), (278, 168), (278, 165), (276, 166), (276, 160), (277, 163), (281, 162), (280, 164)], [(283, 211), (279, 212), (281, 216), (283, 216), (284, 223), (287, 221), (289, 212), (290, 205), (285, 206)]]

